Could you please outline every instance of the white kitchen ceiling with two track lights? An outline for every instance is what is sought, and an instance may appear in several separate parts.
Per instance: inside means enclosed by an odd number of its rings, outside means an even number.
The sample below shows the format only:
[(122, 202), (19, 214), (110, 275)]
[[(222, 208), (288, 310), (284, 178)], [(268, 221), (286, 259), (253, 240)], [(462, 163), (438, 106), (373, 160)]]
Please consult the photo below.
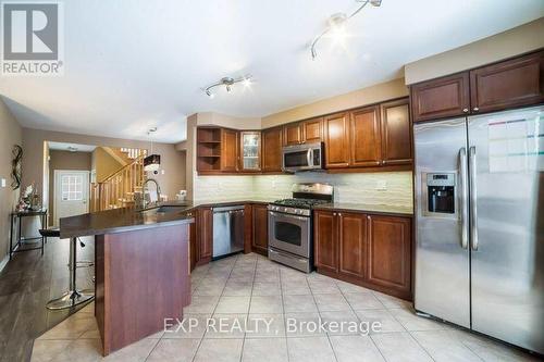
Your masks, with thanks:
[[(403, 65), (544, 15), (542, 0), (383, 0), (349, 23), (346, 49), (308, 43), (355, 0), (64, 1), (62, 77), (2, 77), (25, 126), (175, 142), (186, 115), (262, 116), (403, 75)], [(252, 74), (250, 90), (201, 87)]]

